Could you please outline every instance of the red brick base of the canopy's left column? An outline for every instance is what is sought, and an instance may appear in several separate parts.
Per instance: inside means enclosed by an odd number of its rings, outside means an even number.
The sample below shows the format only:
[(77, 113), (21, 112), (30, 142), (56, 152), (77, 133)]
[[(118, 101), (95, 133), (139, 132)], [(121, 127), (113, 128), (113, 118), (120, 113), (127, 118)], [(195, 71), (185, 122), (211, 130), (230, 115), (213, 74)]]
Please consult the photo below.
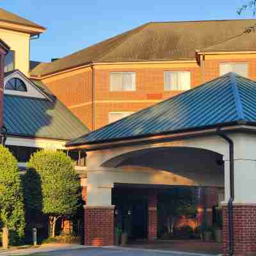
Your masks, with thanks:
[(84, 205), (84, 244), (114, 245), (114, 205)]

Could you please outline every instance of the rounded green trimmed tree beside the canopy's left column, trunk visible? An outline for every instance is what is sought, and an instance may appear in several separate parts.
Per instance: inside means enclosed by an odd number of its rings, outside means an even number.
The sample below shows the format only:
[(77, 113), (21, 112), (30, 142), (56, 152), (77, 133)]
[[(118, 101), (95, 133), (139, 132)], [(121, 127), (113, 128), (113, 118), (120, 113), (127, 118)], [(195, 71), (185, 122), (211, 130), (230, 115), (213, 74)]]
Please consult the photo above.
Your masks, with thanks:
[(56, 221), (76, 213), (79, 200), (79, 179), (70, 157), (60, 151), (41, 150), (29, 159), (28, 168), (40, 175), (42, 211), (49, 216), (51, 236)]

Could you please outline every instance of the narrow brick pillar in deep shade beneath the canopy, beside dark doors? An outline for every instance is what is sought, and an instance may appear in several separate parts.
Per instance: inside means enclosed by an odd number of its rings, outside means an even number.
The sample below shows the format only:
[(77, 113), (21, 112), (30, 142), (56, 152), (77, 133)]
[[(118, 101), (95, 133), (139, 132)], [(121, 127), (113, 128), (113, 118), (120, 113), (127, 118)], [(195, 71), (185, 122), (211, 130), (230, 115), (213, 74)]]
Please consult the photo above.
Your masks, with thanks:
[(157, 239), (157, 192), (148, 196), (148, 241)]

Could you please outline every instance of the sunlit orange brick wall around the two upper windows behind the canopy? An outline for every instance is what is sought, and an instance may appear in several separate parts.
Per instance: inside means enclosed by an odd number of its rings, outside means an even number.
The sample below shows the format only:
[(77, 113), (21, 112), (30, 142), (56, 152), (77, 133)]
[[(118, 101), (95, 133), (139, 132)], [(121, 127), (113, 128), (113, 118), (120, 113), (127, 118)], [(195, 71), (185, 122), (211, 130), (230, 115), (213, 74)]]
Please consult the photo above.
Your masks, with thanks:
[[(109, 112), (137, 112), (156, 104), (156, 102), (175, 96), (182, 91), (164, 92), (164, 71), (166, 68), (95, 68), (95, 123), (96, 129), (108, 124)], [(188, 70), (191, 72), (191, 87), (202, 83), (200, 67), (172, 68), (170, 70)], [(135, 92), (110, 92), (109, 73), (113, 71), (136, 72)], [(127, 100), (127, 102), (125, 102)], [(140, 102), (132, 102), (140, 100)], [(102, 102), (104, 101), (104, 102)], [(108, 102), (107, 102), (108, 101)]]

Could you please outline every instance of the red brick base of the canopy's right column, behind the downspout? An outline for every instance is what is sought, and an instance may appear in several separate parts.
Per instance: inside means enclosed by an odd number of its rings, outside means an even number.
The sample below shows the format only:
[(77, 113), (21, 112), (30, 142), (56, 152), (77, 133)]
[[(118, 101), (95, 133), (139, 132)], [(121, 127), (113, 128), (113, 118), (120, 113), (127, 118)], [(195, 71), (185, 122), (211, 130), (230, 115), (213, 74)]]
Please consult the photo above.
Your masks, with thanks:
[[(234, 205), (234, 255), (256, 255), (256, 205)], [(222, 250), (228, 255), (228, 208), (223, 206)]]

